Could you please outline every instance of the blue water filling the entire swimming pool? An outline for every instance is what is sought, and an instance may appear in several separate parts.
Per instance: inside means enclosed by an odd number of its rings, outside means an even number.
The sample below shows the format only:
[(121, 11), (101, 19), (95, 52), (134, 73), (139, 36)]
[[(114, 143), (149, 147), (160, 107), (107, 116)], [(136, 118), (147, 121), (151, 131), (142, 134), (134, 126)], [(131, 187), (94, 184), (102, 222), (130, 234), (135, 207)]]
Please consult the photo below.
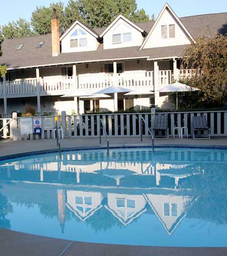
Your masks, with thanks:
[(74, 241), (227, 246), (227, 150), (118, 148), (0, 161), (0, 227)]

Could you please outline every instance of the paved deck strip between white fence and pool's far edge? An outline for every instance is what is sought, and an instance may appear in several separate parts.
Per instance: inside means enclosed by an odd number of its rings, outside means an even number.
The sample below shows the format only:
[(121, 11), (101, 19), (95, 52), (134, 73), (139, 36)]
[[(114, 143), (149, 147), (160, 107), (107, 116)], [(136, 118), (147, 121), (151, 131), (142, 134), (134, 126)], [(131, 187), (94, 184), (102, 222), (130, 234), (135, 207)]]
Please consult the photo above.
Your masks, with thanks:
[[(227, 137), (213, 137), (212, 139), (157, 139), (155, 145), (187, 145), (187, 146), (227, 146)], [(144, 137), (143, 142), (140, 138), (110, 138), (110, 146), (142, 146), (151, 145), (151, 139)], [(61, 140), (62, 148), (72, 147), (99, 147), (99, 138), (68, 138)], [(106, 146), (106, 138), (102, 138), (101, 146)], [(51, 150), (57, 148), (54, 139), (39, 139), (33, 141), (0, 141), (0, 156), (12, 155), (24, 152), (32, 152), (39, 150)]]

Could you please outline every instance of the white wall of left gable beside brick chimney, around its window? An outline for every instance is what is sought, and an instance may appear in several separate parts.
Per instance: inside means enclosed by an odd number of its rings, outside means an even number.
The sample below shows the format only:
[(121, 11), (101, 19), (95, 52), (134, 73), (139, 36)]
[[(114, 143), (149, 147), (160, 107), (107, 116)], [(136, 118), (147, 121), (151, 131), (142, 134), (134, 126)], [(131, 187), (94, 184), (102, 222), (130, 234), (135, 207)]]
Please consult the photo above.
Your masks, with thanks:
[[(73, 34), (73, 31), (77, 28), (81, 28), (78, 24), (75, 26), (75, 28), (69, 32), (68, 35), (65, 36), (64, 39), (61, 41), (61, 52), (66, 53), (66, 52), (85, 52), (85, 51), (95, 51), (99, 43), (96, 40), (96, 38), (91, 35), (89, 32), (86, 31), (87, 33), (87, 47), (77, 47), (77, 48), (70, 48), (70, 36)], [(81, 28), (83, 30), (83, 28)], [(83, 30), (85, 31), (85, 30)], [(85, 36), (83, 36), (85, 37)]]

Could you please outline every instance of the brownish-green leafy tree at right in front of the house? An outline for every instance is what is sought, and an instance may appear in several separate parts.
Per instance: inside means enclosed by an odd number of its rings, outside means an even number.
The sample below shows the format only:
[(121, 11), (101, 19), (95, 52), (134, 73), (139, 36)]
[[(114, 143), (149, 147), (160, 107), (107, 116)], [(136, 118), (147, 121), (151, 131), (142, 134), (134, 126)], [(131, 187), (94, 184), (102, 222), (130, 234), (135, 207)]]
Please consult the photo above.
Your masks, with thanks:
[(188, 82), (201, 90), (201, 100), (223, 104), (227, 86), (227, 37), (199, 38), (183, 53), (182, 67), (194, 68)]

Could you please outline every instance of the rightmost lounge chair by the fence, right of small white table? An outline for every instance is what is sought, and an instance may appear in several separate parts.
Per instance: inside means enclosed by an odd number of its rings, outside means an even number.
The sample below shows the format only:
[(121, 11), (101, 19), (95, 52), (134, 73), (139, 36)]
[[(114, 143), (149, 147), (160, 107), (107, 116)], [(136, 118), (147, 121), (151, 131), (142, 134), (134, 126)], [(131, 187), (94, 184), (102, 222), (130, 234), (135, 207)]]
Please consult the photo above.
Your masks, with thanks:
[[(203, 133), (201, 133), (201, 131)], [(192, 118), (192, 132), (194, 139), (211, 138), (211, 129), (207, 126), (207, 118), (204, 115)]]

